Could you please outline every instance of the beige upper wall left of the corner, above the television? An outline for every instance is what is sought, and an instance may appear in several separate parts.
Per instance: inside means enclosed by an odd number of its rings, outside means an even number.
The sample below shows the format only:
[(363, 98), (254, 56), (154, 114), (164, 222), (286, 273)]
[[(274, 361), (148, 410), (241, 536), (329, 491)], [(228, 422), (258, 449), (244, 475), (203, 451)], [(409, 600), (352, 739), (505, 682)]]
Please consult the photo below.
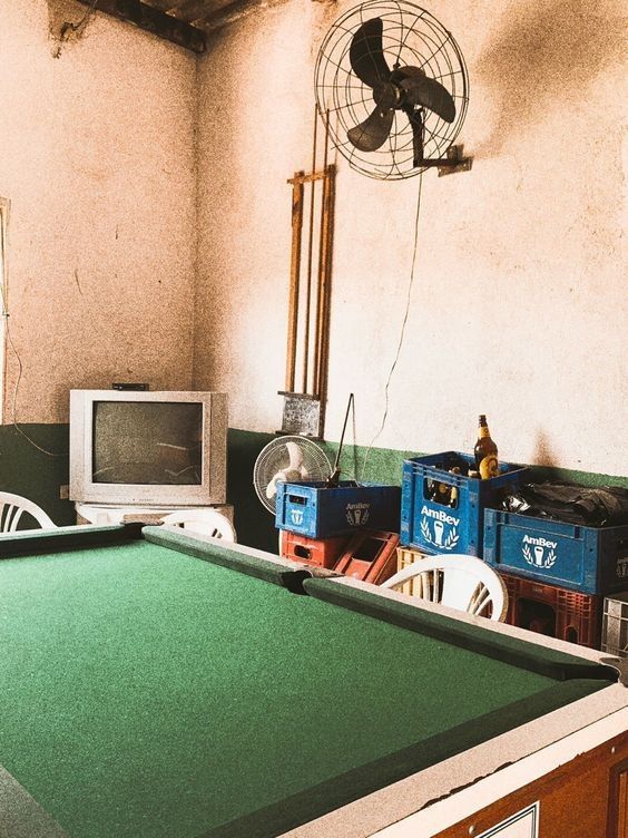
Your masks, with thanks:
[[(18, 421), (67, 421), (72, 387), (189, 388), (196, 59), (87, 7), (0, 0), (0, 196), (11, 201)], [(6, 419), (19, 367), (9, 348)]]

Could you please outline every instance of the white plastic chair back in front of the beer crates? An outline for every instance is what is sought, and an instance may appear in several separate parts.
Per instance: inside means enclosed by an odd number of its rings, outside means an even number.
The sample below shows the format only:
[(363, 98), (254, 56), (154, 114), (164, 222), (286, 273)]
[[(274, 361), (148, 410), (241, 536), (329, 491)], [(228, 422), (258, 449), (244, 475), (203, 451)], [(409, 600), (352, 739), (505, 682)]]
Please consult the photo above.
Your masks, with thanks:
[(381, 584), (395, 588), (413, 579), (413, 595), (429, 602), (489, 616), (503, 622), (508, 612), (508, 591), (492, 567), (475, 556), (454, 553), (426, 556), (403, 567)]

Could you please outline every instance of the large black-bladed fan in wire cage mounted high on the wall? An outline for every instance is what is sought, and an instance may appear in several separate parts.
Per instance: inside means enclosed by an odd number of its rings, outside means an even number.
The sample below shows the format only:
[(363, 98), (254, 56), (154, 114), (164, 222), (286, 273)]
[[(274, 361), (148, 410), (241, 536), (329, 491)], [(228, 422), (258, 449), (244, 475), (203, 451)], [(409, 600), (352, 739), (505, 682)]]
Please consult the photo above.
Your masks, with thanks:
[(316, 106), (352, 168), (402, 179), (455, 165), (448, 149), (469, 101), (452, 35), (408, 0), (367, 0), (341, 17), (316, 59)]

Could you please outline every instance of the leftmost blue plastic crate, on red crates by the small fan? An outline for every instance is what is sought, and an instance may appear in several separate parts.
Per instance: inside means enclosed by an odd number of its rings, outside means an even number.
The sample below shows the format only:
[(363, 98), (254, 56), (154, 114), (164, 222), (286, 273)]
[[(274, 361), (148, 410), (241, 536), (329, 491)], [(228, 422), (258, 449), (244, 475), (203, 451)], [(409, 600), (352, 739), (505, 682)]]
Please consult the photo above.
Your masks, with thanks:
[(279, 529), (310, 538), (347, 535), (356, 529), (399, 533), (399, 486), (355, 485), (341, 480), (326, 488), (324, 481), (278, 483), (275, 524)]

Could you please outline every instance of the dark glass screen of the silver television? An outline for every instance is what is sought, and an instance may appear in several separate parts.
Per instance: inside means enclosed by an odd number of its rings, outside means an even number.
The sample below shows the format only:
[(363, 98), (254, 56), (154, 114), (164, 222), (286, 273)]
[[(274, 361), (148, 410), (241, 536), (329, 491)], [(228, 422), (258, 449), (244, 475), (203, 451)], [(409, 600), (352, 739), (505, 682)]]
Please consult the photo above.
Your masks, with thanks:
[(199, 486), (203, 405), (95, 401), (92, 481)]

